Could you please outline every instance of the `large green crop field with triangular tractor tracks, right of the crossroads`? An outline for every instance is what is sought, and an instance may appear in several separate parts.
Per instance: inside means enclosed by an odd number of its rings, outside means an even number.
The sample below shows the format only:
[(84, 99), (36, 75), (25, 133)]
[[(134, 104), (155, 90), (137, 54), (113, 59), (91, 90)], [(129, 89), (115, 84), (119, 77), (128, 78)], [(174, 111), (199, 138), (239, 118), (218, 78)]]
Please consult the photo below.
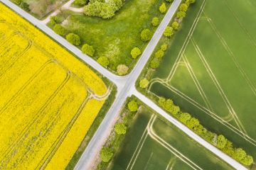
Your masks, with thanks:
[(198, 0), (149, 91), (256, 157), (256, 2)]

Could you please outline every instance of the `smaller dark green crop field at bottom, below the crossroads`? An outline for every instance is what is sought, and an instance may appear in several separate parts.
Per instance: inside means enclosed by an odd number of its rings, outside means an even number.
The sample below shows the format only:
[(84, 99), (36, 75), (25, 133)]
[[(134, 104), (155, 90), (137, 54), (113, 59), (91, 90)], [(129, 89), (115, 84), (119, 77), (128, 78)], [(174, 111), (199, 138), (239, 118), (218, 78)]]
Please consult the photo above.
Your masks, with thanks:
[(174, 125), (149, 111), (137, 114), (108, 169), (231, 169)]

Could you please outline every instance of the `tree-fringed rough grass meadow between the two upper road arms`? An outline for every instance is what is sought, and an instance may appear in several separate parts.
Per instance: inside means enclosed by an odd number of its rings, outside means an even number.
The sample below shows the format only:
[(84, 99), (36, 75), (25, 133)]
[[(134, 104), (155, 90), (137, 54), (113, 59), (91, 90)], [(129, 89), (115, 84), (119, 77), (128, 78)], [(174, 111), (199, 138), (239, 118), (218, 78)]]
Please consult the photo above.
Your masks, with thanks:
[(140, 33), (144, 28), (156, 29), (151, 26), (151, 20), (154, 16), (160, 19), (164, 17), (159, 12), (162, 2), (164, 1), (125, 1), (122, 8), (109, 20), (68, 11), (59, 13), (58, 16), (69, 32), (80, 35), (82, 44), (88, 43), (95, 47), (95, 60), (101, 56), (109, 57), (109, 67), (115, 72), (118, 64), (126, 64), (130, 69), (136, 64), (130, 52), (134, 47), (146, 47), (147, 43), (140, 40)]

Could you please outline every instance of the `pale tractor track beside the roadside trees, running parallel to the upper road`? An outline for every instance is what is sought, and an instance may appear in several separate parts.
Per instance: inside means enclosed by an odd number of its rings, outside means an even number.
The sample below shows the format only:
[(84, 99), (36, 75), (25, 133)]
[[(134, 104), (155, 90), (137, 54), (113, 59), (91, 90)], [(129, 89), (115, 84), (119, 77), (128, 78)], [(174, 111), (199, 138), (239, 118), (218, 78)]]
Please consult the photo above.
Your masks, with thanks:
[(171, 81), (171, 78), (173, 77), (174, 72), (176, 71), (176, 63), (180, 62), (181, 60), (181, 54), (186, 50), (186, 47), (188, 45), (189, 40), (191, 39), (191, 36), (193, 35), (194, 30), (196, 30), (196, 26), (198, 24), (198, 21), (203, 13), (203, 9), (206, 6), (206, 1), (207, 0), (203, 0), (203, 4), (200, 7), (200, 10), (198, 11), (197, 15), (196, 15), (196, 19), (195, 21), (193, 21), (193, 25), (191, 27), (191, 29), (188, 32), (188, 35), (186, 37), (186, 40), (184, 41), (180, 52), (178, 53), (178, 57), (176, 58), (175, 62), (174, 62), (174, 66), (171, 68), (171, 72), (169, 73), (169, 76), (166, 77), (166, 81)]

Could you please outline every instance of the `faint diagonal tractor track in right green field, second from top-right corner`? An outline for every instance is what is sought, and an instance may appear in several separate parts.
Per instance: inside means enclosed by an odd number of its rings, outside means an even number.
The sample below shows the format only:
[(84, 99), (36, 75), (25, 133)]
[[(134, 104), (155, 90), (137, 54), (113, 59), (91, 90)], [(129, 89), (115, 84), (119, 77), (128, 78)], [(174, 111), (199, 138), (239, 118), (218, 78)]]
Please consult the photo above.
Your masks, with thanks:
[(242, 69), (242, 66), (239, 64), (237, 57), (235, 57), (235, 55), (233, 54), (232, 50), (228, 46), (227, 42), (225, 41), (225, 38), (223, 38), (223, 36), (220, 34), (220, 31), (218, 30), (218, 28), (216, 28), (216, 26), (213, 23), (211, 18), (207, 18), (207, 21), (208, 21), (208, 23), (210, 23), (210, 27), (216, 33), (216, 35), (217, 35), (218, 39), (220, 40), (220, 42), (222, 43), (223, 47), (228, 52), (228, 55), (231, 57), (231, 59), (235, 63), (235, 66), (238, 67), (242, 77), (245, 79), (245, 81), (247, 82), (248, 86), (250, 86), (250, 89), (252, 90), (253, 94), (256, 96), (256, 88), (255, 88), (254, 84), (252, 83), (250, 78), (247, 76), (245, 70)]

